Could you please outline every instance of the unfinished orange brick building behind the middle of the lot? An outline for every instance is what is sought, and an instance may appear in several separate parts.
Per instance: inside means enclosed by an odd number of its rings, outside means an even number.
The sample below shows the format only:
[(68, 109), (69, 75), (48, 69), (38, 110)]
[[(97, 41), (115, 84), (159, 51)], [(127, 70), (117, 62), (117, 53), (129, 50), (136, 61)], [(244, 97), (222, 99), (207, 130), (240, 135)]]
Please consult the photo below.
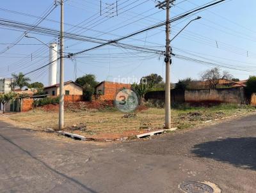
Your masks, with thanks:
[(115, 100), (116, 93), (123, 88), (131, 89), (131, 84), (102, 81), (95, 87), (96, 93), (102, 100)]

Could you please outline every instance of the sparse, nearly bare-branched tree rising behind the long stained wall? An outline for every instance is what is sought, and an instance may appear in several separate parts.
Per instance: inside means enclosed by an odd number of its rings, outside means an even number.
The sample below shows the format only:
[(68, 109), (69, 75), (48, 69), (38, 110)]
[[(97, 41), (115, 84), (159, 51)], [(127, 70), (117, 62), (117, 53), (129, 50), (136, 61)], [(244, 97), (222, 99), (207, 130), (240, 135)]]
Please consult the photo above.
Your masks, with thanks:
[(216, 89), (220, 79), (231, 80), (232, 75), (230, 75), (230, 73), (228, 73), (227, 71), (223, 71), (223, 73), (221, 74), (220, 68), (212, 68), (202, 73), (201, 79), (202, 81), (207, 82), (209, 88)]

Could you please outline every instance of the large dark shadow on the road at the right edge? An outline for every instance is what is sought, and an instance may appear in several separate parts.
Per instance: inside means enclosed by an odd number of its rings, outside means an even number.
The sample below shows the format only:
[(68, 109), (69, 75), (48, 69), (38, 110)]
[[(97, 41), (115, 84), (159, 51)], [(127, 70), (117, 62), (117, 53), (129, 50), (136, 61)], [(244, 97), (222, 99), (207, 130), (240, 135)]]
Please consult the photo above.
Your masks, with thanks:
[(192, 153), (236, 167), (256, 170), (256, 137), (227, 138), (196, 144)]

